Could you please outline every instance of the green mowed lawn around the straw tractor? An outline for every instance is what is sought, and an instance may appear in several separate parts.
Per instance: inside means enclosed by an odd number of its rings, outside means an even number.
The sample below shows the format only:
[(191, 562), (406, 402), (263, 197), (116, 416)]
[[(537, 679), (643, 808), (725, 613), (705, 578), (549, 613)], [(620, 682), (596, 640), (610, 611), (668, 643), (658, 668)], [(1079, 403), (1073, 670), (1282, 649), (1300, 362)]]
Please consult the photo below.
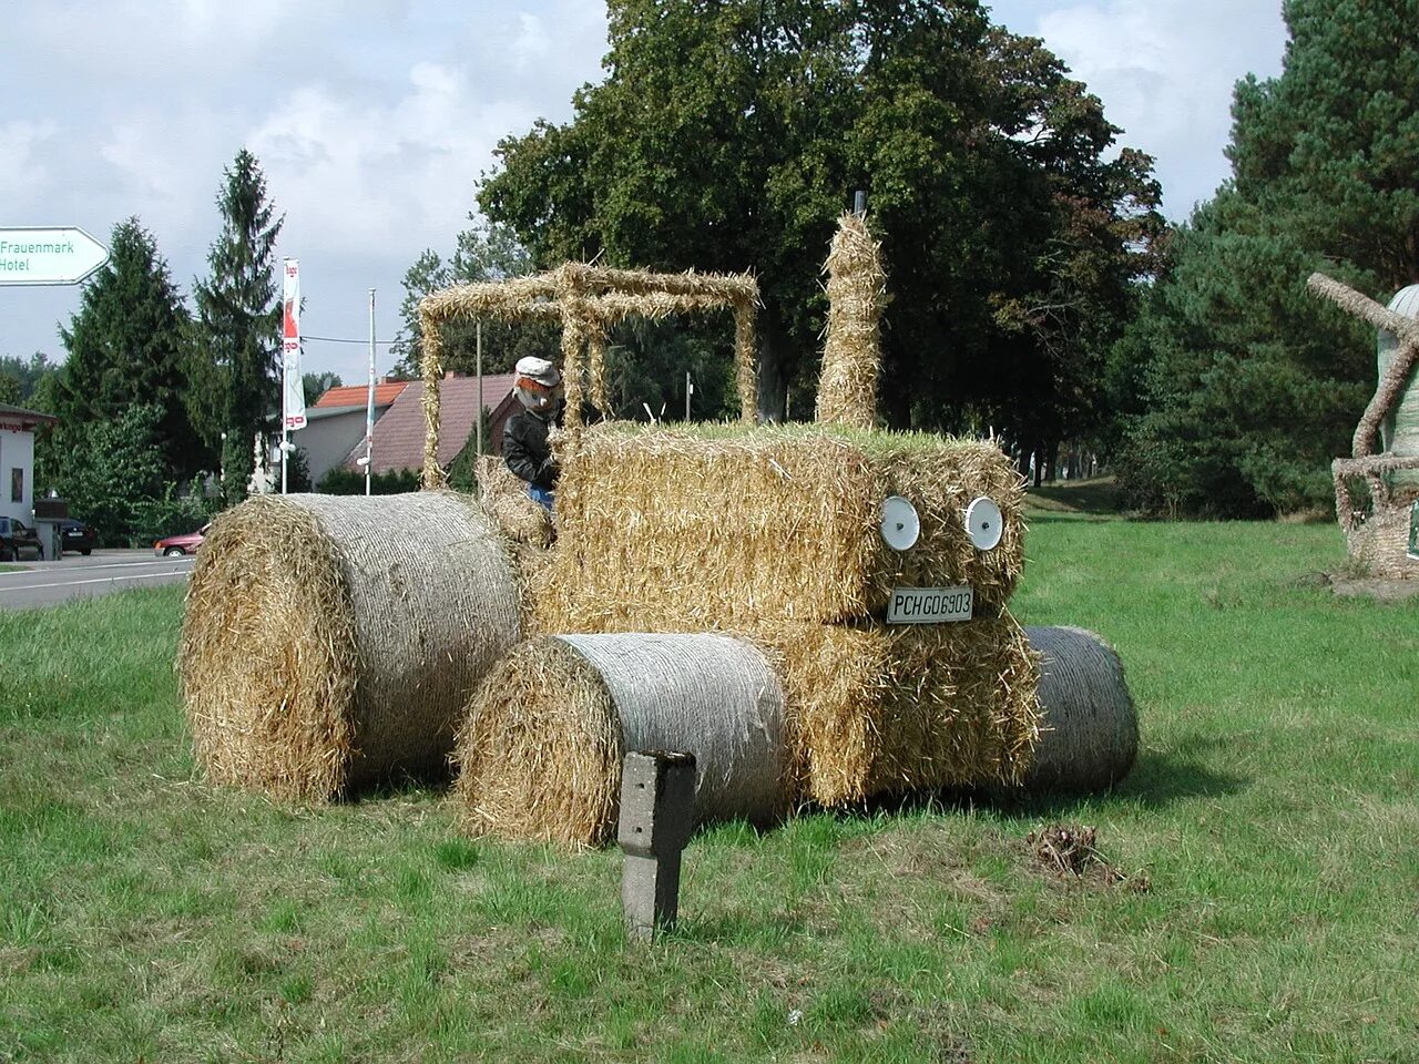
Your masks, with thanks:
[[(0, 1060), (1419, 1058), (1419, 603), (1298, 582), (1332, 526), (1032, 523), (1016, 611), (1118, 647), (1127, 783), (717, 827), (651, 946), (614, 851), (203, 783), (180, 590), (0, 614)], [(1054, 823), (1128, 878), (1037, 868)]]

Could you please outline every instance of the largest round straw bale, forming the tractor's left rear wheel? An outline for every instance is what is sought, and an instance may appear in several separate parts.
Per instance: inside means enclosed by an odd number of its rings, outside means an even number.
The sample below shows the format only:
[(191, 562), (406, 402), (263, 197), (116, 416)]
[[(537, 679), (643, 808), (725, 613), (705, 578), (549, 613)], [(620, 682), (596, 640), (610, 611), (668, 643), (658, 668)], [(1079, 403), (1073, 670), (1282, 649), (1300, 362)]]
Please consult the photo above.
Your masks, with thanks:
[(219, 783), (328, 800), (441, 765), (468, 691), (519, 637), (512, 563), (451, 492), (265, 495), (219, 516), (179, 674)]

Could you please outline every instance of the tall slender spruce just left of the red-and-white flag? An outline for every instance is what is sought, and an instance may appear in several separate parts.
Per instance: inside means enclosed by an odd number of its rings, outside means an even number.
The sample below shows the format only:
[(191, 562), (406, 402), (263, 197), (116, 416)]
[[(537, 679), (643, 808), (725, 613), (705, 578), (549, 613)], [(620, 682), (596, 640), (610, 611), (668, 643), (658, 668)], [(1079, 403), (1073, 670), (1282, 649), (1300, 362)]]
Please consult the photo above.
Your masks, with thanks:
[(224, 491), (240, 498), (253, 467), (253, 438), (270, 433), (281, 403), (280, 288), (272, 258), (284, 217), (267, 200), (257, 157), (237, 152), (217, 194), (221, 234), (207, 253), (210, 275), (194, 284), (197, 342), (190, 409), (209, 445), (226, 434)]

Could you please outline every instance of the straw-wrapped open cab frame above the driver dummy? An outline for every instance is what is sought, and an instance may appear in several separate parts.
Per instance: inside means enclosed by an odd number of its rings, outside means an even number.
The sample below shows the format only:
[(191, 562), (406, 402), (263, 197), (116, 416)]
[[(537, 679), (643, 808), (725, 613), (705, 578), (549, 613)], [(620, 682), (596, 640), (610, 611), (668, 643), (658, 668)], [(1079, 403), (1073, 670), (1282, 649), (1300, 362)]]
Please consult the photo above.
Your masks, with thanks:
[(562, 379), (566, 386), (566, 441), (575, 448), (582, 427), (583, 367), (592, 404), (613, 414), (606, 393), (607, 331), (639, 316), (660, 321), (671, 315), (734, 312), (734, 348), (742, 420), (758, 417), (758, 379), (753, 356), (753, 316), (759, 285), (748, 274), (650, 274), (568, 262), (536, 277), (454, 285), (426, 295), (419, 304), (423, 332), (424, 488), (447, 487), (438, 464), (438, 383), (443, 380), (444, 323), (461, 318), (505, 322), (562, 323)]

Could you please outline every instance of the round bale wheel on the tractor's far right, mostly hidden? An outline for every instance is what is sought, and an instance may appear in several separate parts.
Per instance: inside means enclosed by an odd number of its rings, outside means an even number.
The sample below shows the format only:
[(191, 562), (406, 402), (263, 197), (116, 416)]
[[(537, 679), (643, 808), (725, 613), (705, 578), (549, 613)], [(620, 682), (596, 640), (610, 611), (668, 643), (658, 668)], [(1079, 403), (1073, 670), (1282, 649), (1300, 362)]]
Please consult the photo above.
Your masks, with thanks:
[(1040, 741), (1026, 790), (1104, 790), (1134, 767), (1138, 714), (1118, 653), (1084, 628), (1026, 627), (1040, 664)]

